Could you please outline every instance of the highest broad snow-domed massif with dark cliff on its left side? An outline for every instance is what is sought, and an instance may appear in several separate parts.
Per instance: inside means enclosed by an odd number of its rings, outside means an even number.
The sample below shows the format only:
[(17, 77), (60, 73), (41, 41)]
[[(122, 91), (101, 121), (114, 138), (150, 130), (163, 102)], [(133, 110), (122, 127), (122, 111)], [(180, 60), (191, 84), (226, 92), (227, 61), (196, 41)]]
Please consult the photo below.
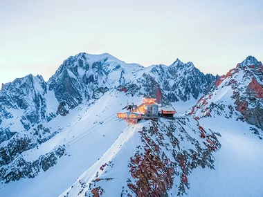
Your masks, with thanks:
[(100, 98), (109, 89), (129, 82), (143, 67), (125, 64), (109, 54), (80, 53), (66, 59), (48, 80), (49, 90), (59, 102), (73, 109), (78, 104)]

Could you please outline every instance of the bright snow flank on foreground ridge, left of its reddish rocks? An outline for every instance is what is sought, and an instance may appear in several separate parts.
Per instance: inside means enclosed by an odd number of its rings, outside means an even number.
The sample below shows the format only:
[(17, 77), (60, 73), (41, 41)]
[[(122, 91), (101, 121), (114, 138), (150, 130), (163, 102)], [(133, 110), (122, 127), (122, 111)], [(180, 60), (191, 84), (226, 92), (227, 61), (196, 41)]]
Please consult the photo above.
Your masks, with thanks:
[[(78, 178), (78, 181), (74, 184), (74, 187), (71, 189), (68, 189), (65, 191), (65, 194), (71, 191), (71, 196), (78, 196), (78, 193), (82, 189), (82, 183), (83, 182), (91, 182), (94, 177), (100, 177), (100, 180), (105, 180), (103, 184), (103, 188), (105, 190), (107, 189), (107, 194), (110, 196), (119, 196), (118, 190), (120, 190), (120, 184), (122, 182), (125, 182), (127, 177), (130, 177), (129, 175), (129, 169), (127, 166), (122, 165), (124, 162), (129, 160), (129, 157), (135, 153), (135, 149), (131, 149), (130, 147), (134, 147), (134, 145), (140, 144), (140, 135), (138, 135), (138, 131), (142, 129), (143, 124), (138, 123), (136, 125), (128, 126), (118, 137), (118, 140), (112, 144), (112, 146), (105, 152), (105, 154), (102, 156), (98, 162), (96, 162), (92, 167), (90, 167), (87, 171), (85, 171), (80, 178)], [(134, 136), (134, 138), (132, 138)], [(131, 146), (129, 146), (129, 144)], [(98, 169), (102, 169), (105, 164), (107, 164), (109, 161), (111, 161), (116, 154), (119, 155), (118, 160), (116, 160), (116, 163), (120, 164), (118, 167), (115, 167), (113, 171), (110, 171), (110, 173), (102, 174), (103, 171), (100, 170), (99, 173)], [(112, 166), (111, 166), (112, 167)], [(107, 170), (107, 166), (105, 165), (105, 170)], [(111, 180), (111, 176), (114, 175), (114, 178)], [(107, 182), (110, 181), (111, 185), (109, 185)], [(64, 196), (64, 194), (60, 195)]]

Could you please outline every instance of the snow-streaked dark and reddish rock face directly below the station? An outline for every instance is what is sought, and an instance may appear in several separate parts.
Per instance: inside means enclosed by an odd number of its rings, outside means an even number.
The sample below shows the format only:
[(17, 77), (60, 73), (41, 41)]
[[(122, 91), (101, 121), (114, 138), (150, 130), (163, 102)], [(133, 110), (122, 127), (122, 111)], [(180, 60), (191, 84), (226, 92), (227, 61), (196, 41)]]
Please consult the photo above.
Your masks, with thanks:
[[(168, 192), (174, 184), (179, 185), (176, 195), (181, 196), (190, 187), (188, 175), (194, 168), (214, 168), (212, 152), (221, 147), (215, 133), (208, 133), (198, 126), (199, 138), (203, 139), (203, 144), (206, 145), (206, 148), (201, 147), (198, 140), (191, 138), (185, 130), (185, 124), (190, 126), (188, 121), (179, 119), (170, 124), (164, 124), (163, 121), (158, 124), (152, 122), (149, 129), (143, 128), (141, 140), (144, 145), (136, 149), (138, 153), (129, 163), (135, 182), (128, 181), (128, 187), (136, 196), (173, 196), (175, 194), (169, 195)], [(182, 149), (182, 138), (177, 138), (174, 132), (187, 136), (183, 141), (192, 142), (194, 149)], [(165, 143), (165, 138), (170, 141), (169, 144)], [(169, 158), (163, 148), (171, 151), (172, 158)], [(178, 177), (179, 182), (174, 182), (174, 177)]]

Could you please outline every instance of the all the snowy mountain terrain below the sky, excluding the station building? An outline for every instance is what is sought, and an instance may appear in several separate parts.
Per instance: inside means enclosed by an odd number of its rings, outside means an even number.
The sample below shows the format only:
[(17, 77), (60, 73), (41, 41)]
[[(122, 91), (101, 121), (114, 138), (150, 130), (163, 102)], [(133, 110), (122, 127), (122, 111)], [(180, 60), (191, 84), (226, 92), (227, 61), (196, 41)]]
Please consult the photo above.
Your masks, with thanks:
[[(15, 79), (0, 90), (0, 196), (263, 196), (262, 86), (252, 56), (214, 76), (80, 53), (47, 82)], [(117, 118), (156, 95), (174, 118)]]

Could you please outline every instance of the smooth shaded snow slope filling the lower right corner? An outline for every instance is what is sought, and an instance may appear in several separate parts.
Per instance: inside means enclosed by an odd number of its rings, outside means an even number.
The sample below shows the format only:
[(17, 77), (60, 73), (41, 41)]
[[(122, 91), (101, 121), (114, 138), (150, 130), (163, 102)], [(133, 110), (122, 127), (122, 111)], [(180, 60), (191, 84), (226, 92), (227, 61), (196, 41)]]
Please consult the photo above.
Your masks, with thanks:
[(250, 126), (220, 117), (199, 122), (221, 133), (221, 149), (215, 155), (215, 170), (192, 172), (189, 196), (263, 196), (263, 142), (251, 133)]

